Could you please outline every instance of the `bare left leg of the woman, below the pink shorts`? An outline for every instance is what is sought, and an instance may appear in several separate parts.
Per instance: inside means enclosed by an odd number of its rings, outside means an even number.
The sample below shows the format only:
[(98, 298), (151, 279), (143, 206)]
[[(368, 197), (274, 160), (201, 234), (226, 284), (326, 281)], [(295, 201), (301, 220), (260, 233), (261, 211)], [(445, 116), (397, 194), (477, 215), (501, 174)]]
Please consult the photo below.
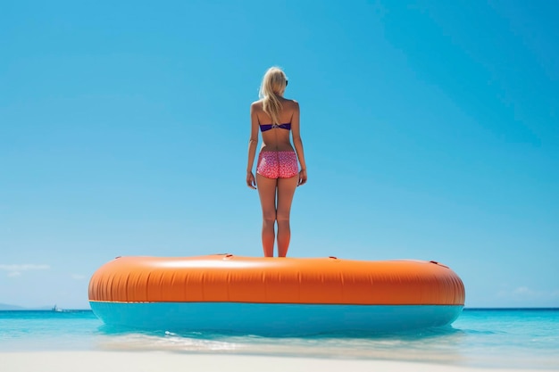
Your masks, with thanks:
[(256, 173), (256, 187), (262, 205), (262, 246), (264, 257), (273, 257), (273, 243), (276, 238), (274, 224), (276, 222), (276, 188), (277, 178), (265, 178)]

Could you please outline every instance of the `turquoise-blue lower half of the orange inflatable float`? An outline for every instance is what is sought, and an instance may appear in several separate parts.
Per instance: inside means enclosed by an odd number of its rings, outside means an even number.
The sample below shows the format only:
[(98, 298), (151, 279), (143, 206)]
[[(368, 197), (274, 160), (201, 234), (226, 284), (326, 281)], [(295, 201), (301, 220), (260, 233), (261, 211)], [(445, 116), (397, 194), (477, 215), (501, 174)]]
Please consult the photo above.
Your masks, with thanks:
[(106, 325), (242, 335), (386, 333), (443, 327), (462, 305), (336, 305), (246, 302), (89, 302)]

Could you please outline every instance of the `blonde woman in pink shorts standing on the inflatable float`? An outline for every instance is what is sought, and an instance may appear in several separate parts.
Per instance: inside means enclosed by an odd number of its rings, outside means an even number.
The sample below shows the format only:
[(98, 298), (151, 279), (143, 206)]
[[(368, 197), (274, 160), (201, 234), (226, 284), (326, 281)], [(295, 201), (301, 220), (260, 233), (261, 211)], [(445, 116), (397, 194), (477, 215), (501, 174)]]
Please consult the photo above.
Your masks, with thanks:
[[(305, 156), (299, 132), (299, 103), (283, 97), (287, 86), (285, 73), (272, 67), (264, 74), (260, 87), (261, 99), (250, 106), (251, 130), (246, 185), (253, 189), (258, 186), (263, 213), (262, 244), (265, 257), (273, 257), (276, 222), (278, 256), (285, 257), (288, 254), (291, 202), (296, 186), (306, 182)], [(262, 132), (263, 144), (254, 179), (253, 163), (259, 130)], [(289, 141), (289, 134), (293, 137), (293, 146)], [(301, 170), (297, 160), (301, 164)]]

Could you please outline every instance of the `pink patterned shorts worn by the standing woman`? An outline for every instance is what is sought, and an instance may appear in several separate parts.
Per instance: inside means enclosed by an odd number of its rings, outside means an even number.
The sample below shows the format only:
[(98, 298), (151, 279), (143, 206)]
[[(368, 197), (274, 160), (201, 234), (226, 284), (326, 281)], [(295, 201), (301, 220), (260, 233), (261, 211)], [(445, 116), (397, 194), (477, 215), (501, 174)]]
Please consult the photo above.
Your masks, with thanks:
[(294, 151), (263, 151), (258, 154), (256, 173), (265, 178), (292, 178), (299, 173)]

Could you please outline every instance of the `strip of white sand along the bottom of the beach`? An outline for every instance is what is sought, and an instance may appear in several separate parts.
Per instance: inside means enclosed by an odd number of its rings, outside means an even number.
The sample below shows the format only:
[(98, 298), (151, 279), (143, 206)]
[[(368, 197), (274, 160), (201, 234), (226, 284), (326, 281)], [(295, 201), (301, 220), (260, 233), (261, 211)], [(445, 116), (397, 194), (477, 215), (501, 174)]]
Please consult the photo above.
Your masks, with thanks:
[[(2, 372), (482, 372), (530, 369), (469, 368), (388, 360), (339, 360), (147, 351), (0, 352)], [(538, 369), (533, 369), (536, 371)], [(541, 371), (541, 369), (539, 369)]]

